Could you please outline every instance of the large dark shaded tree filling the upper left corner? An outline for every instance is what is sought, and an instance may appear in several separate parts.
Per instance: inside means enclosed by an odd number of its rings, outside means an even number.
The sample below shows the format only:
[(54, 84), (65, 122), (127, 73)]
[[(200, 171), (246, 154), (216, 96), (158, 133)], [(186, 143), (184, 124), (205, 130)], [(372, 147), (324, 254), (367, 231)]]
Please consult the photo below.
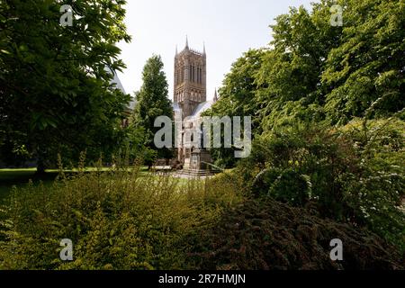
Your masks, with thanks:
[[(70, 4), (73, 25), (60, 24)], [(112, 85), (116, 43), (130, 41), (125, 1), (0, 2), (0, 157), (111, 149), (130, 96)], [(108, 68), (106, 68), (108, 67)]]

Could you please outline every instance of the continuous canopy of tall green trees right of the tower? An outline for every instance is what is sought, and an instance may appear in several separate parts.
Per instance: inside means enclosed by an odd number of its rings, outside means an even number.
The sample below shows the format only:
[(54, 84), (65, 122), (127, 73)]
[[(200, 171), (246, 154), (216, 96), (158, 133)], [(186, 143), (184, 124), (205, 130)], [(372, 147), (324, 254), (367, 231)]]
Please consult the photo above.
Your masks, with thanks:
[[(334, 4), (343, 8), (341, 27), (330, 22)], [(207, 113), (251, 115), (257, 135), (297, 121), (344, 125), (403, 111), (404, 8), (405, 0), (291, 8), (275, 19), (267, 49), (235, 62)]]

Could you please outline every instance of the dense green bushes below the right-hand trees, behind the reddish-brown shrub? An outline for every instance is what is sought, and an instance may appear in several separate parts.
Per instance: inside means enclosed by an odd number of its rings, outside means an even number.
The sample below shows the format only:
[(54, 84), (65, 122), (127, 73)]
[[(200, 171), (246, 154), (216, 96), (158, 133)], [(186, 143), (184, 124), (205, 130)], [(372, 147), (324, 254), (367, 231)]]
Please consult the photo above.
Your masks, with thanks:
[(239, 173), (257, 195), (367, 227), (405, 248), (404, 132), (393, 119), (275, 130), (255, 141)]

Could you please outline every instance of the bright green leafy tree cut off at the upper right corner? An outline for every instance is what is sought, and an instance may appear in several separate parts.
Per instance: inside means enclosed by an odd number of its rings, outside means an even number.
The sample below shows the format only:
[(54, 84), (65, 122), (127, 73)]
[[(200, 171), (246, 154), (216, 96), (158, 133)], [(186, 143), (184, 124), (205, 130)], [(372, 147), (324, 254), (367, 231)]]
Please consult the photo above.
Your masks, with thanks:
[(347, 0), (341, 44), (329, 53), (322, 83), (333, 122), (392, 115), (405, 107), (405, 1)]

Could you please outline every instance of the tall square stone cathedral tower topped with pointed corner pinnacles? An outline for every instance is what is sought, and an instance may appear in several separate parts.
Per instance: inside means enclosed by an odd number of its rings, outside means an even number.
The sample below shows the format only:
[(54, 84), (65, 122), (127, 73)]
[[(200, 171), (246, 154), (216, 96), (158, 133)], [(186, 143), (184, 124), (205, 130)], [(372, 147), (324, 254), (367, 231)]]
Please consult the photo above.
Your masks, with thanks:
[(190, 49), (188, 39), (180, 53), (175, 51), (175, 103), (190, 116), (199, 103), (207, 100), (207, 57), (203, 52)]

